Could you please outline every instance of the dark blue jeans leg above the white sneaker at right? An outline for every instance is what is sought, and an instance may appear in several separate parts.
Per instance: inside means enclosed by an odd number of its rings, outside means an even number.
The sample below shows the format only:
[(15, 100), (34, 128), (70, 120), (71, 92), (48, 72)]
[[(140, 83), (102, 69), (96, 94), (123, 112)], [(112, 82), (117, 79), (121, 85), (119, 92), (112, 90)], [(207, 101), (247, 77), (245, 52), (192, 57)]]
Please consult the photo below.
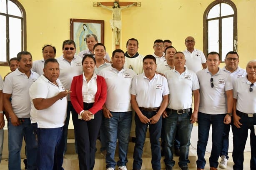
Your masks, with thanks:
[[(233, 123), (233, 121), (231, 121)], [(230, 132), (230, 126), (231, 124), (224, 125), (224, 131), (223, 131), (223, 140), (222, 140), (222, 147), (221, 147), (221, 153), (220, 156), (225, 155), (226, 159), (228, 159), (228, 137), (229, 137), (229, 132)]]

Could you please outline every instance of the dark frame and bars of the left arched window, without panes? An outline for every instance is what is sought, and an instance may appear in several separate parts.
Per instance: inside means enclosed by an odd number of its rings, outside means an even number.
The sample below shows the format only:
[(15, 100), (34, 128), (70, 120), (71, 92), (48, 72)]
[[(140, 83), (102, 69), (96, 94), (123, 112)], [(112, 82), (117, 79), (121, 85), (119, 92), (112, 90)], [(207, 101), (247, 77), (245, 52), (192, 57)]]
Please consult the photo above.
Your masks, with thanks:
[[(8, 0), (6, 0), (7, 2)], [(6, 5), (6, 13), (0, 13), (0, 15), (5, 16), (6, 18), (6, 62), (1, 62), (0, 66), (9, 66), (10, 60), (10, 39), (9, 39), (9, 17), (18, 18), (21, 20), (21, 49), (25, 51), (27, 49), (27, 25), (26, 25), (26, 11), (23, 5), (18, 0), (9, 0), (12, 1), (20, 9), (22, 17), (8, 14), (8, 4)], [(16, 56), (15, 56), (16, 57)]]

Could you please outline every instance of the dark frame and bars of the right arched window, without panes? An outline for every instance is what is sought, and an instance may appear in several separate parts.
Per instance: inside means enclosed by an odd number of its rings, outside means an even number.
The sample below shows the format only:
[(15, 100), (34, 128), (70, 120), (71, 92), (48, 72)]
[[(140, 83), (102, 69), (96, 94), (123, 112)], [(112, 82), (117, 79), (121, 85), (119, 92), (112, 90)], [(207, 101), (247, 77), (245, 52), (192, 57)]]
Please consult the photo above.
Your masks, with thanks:
[[(226, 16), (219, 16), (219, 17), (215, 17), (215, 18), (211, 18), (211, 19), (207, 19), (208, 13), (210, 12), (211, 8), (214, 7), (215, 5), (221, 4), (221, 3), (226, 3), (228, 5), (230, 5), (234, 11), (233, 15), (226, 15)], [(221, 7), (220, 7), (220, 11), (221, 11)], [(221, 32), (221, 20), (223, 18), (227, 18), (227, 17), (231, 17), (233, 16), (233, 51), (237, 52), (237, 46), (238, 46), (238, 36), (237, 36), (237, 9), (236, 9), (236, 5), (231, 1), (231, 0), (215, 0), (213, 1), (210, 5), (208, 5), (208, 7), (206, 8), (206, 10), (203, 13), (203, 53), (204, 54), (208, 54), (208, 20), (217, 20), (218, 19), (218, 23), (219, 23), (219, 54), (221, 57), (221, 62), (222, 61), (222, 56), (225, 57), (226, 54), (222, 55), (222, 32)]]

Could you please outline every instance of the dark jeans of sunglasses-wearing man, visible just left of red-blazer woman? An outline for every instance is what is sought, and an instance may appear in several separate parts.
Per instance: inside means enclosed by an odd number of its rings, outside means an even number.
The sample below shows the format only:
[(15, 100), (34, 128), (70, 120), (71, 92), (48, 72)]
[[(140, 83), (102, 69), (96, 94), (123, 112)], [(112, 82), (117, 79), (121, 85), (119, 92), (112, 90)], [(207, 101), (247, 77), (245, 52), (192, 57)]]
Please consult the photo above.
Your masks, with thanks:
[[(68, 124), (69, 124), (69, 119), (70, 119), (70, 112), (73, 113), (73, 112), (74, 112), (74, 108), (73, 108), (73, 106), (72, 106), (71, 101), (68, 101), (67, 117), (66, 117), (65, 125), (63, 126), (63, 129), (64, 129), (64, 144), (65, 144), (65, 145), (64, 145), (64, 152), (63, 152), (63, 154), (65, 154), (66, 151), (67, 151)], [(72, 120), (74, 120), (73, 117), (72, 117)], [(75, 126), (75, 125), (74, 125), (74, 122), (73, 122), (73, 126)], [(74, 131), (74, 135), (75, 135), (75, 131)], [(75, 137), (75, 153), (78, 153), (78, 152), (77, 152), (76, 137)]]

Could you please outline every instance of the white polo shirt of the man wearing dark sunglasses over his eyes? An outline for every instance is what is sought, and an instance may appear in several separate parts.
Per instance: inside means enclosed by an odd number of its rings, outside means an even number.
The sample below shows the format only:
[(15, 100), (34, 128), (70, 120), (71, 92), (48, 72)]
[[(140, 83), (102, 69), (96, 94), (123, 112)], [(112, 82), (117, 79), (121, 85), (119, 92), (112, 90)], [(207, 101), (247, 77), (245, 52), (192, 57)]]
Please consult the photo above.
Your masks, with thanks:
[[(60, 64), (59, 79), (65, 87), (65, 90), (69, 90), (73, 77), (83, 74), (82, 59), (78, 55), (75, 55), (73, 60), (68, 62), (64, 59), (63, 55), (61, 55), (57, 60)], [(67, 99), (70, 101), (70, 95), (67, 96)]]

